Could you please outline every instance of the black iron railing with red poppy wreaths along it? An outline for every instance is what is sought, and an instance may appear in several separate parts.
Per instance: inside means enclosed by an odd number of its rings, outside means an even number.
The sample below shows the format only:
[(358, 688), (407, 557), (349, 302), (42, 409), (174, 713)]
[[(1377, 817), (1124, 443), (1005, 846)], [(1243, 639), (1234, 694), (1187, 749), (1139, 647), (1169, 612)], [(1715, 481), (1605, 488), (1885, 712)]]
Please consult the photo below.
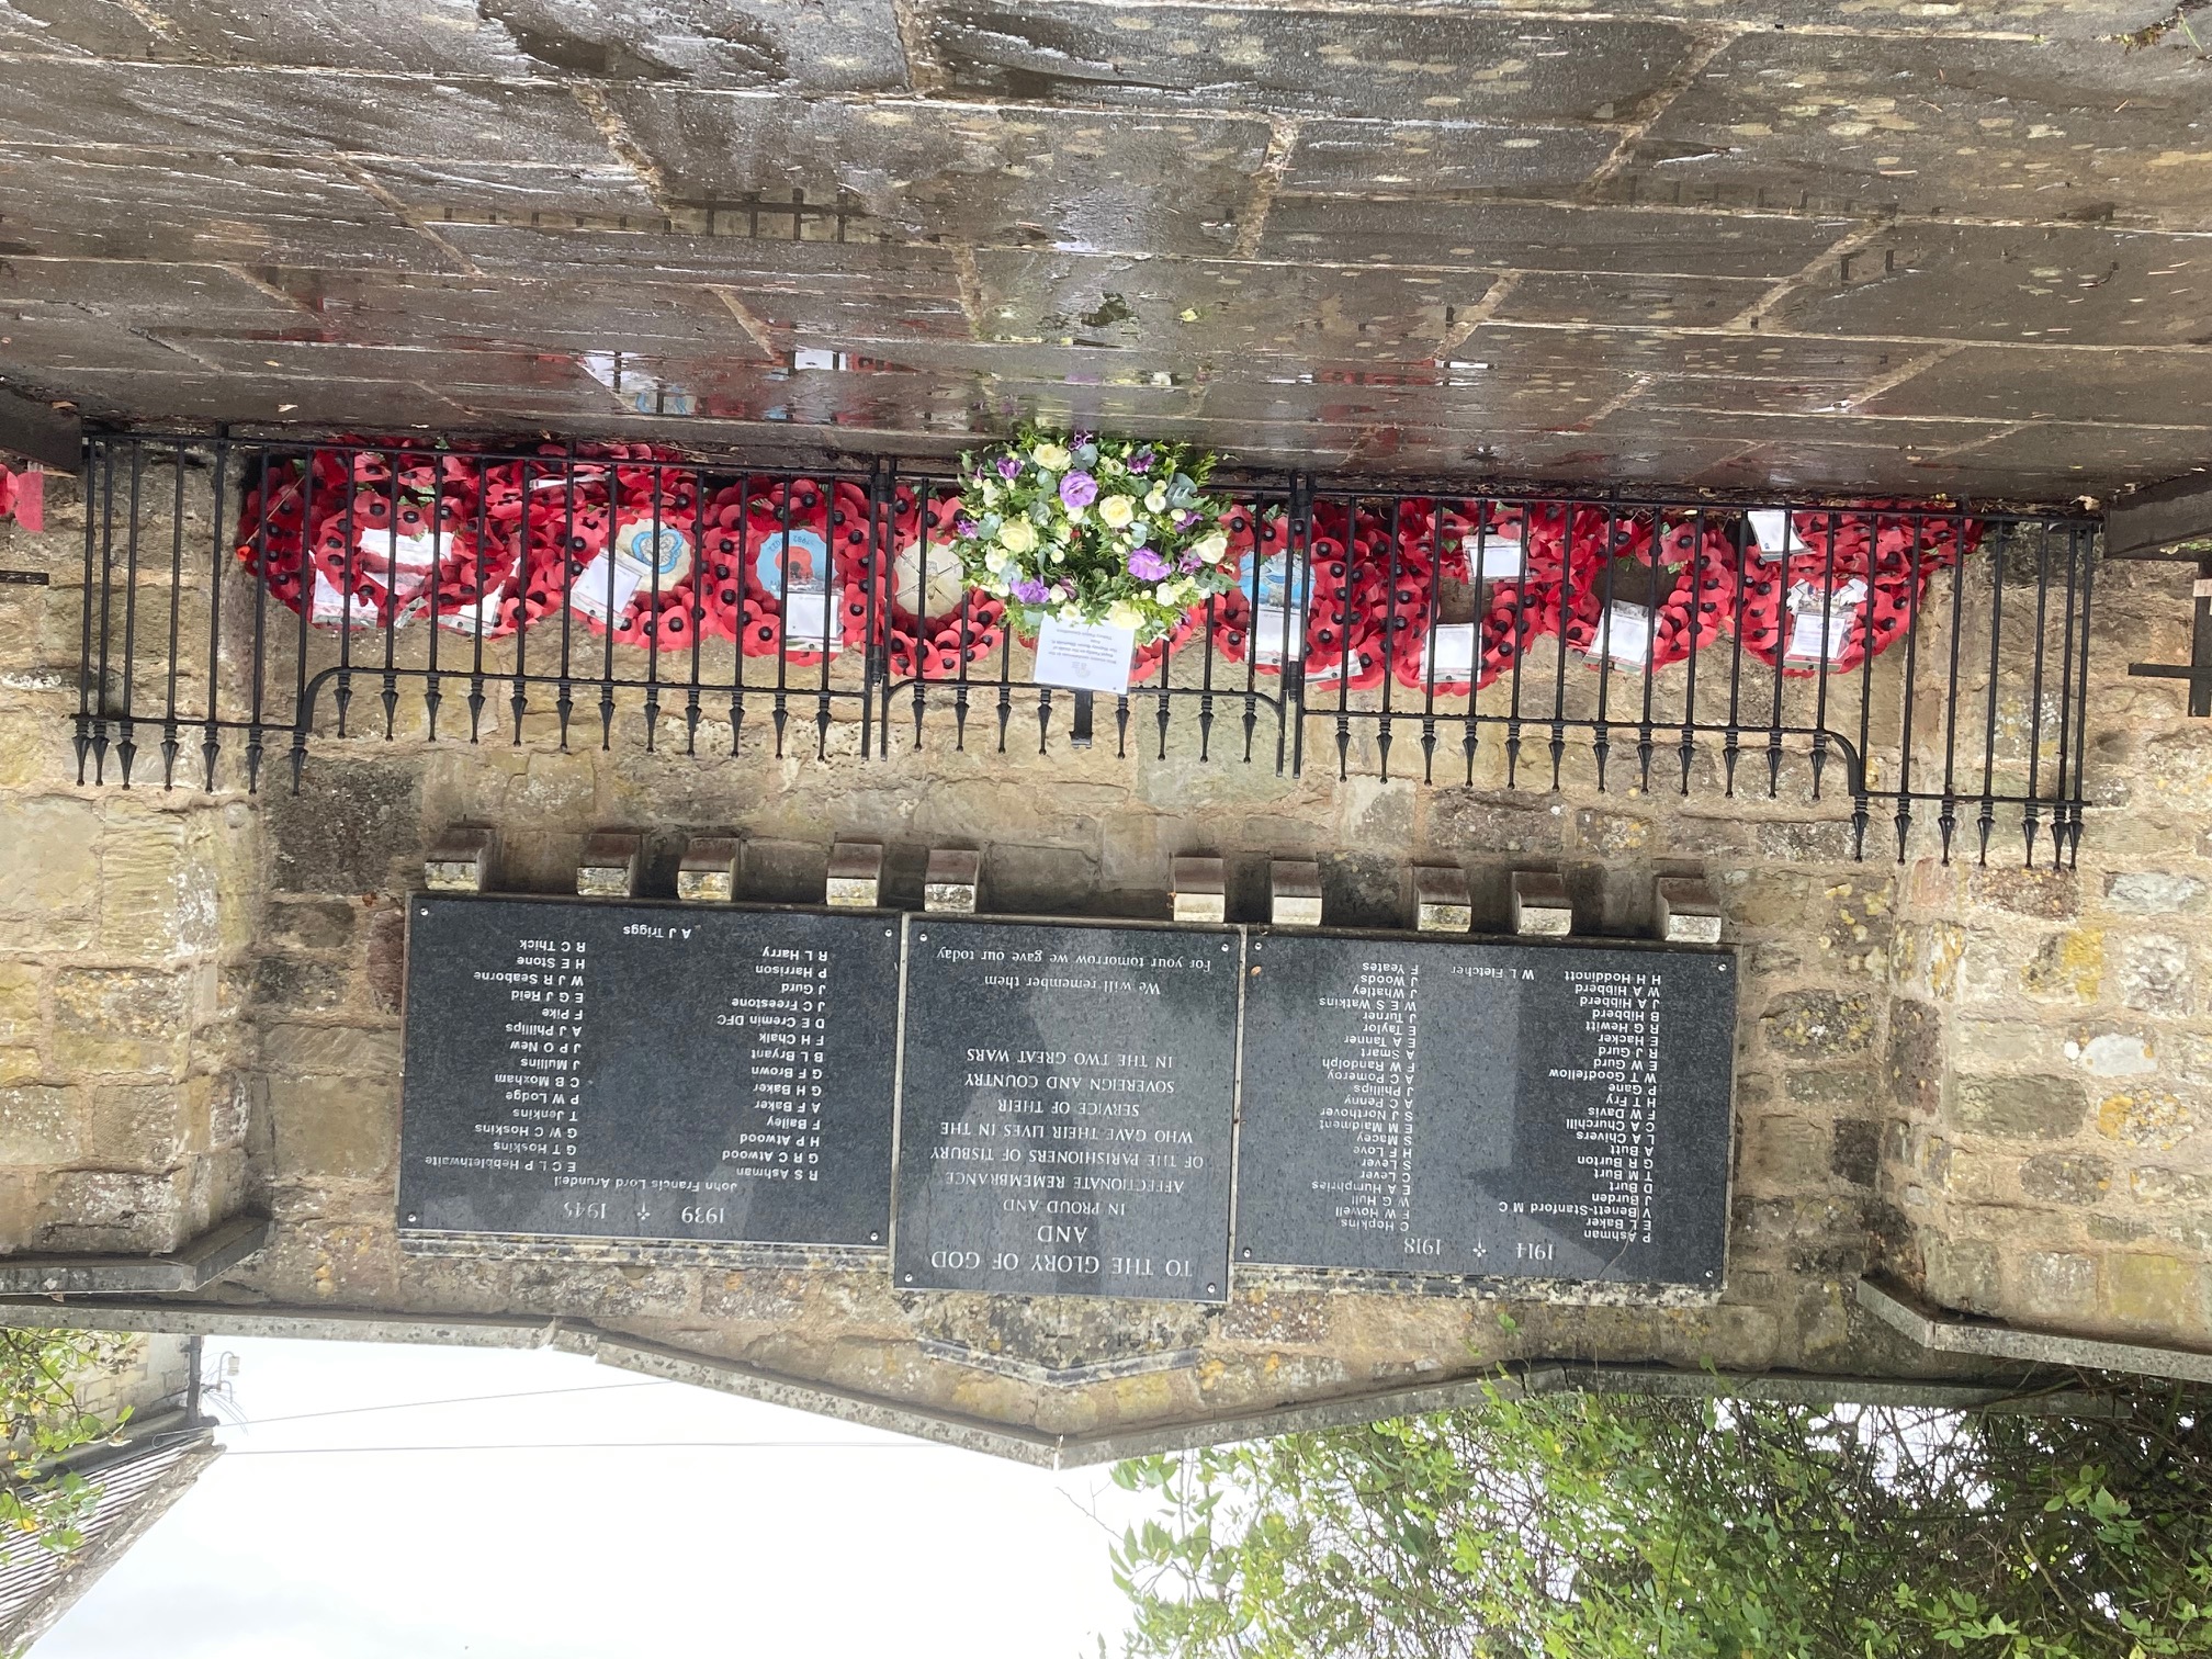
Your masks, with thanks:
[(1093, 695), (958, 580), (942, 465), (95, 436), (84, 484), (88, 781), (254, 790), (281, 757), (299, 787), (361, 737), (1044, 754), (1110, 721), (1117, 754), (1285, 774), (1787, 785), (1849, 801), (1860, 852), (1878, 818), (1900, 856), (2081, 834), (2088, 518), (1232, 478), (1239, 586)]

